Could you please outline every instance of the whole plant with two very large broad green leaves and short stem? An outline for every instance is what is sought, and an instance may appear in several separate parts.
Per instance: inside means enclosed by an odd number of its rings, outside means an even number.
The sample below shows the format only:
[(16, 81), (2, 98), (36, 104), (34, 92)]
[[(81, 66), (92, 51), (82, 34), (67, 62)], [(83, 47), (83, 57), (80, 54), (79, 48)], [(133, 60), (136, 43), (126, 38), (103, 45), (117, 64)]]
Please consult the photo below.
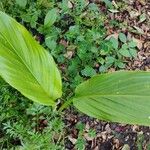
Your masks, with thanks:
[[(0, 26), (1, 77), (27, 98), (56, 108), (62, 81), (53, 57), (22, 25), (3, 12)], [(125, 42), (125, 37), (120, 35), (120, 40)], [(129, 42), (128, 50), (131, 47), (135, 47), (133, 42)], [(80, 111), (98, 119), (149, 125), (149, 89), (149, 72), (97, 75), (78, 85), (75, 96), (59, 111), (73, 102)]]

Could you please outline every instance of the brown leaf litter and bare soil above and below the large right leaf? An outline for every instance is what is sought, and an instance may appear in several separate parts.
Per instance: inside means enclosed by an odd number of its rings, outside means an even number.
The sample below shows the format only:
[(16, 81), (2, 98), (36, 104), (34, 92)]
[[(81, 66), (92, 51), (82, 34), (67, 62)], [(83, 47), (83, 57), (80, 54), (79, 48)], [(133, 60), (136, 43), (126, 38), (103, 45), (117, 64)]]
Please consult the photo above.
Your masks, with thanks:
[[(96, 1), (99, 3), (99, 1)], [(121, 2), (121, 1), (117, 1)], [(150, 1), (146, 0), (127, 0), (128, 9), (118, 14), (108, 13), (108, 19), (115, 19), (119, 22), (127, 22), (129, 28), (119, 30), (108, 27), (108, 35), (124, 32), (138, 41), (138, 56), (135, 60), (127, 60), (126, 70), (145, 70), (150, 71)], [(100, 9), (104, 8), (100, 4)], [(104, 11), (106, 11), (104, 9)], [(148, 21), (139, 23), (138, 17), (130, 15), (130, 11), (146, 13)], [(107, 21), (106, 21), (107, 25)], [(144, 31), (144, 34), (136, 34), (130, 28), (137, 26)], [(109, 71), (115, 71), (111, 68)], [(73, 109), (65, 112), (64, 121), (66, 124), (66, 150), (75, 150), (75, 143), (78, 138), (79, 130), (76, 125), (79, 122), (85, 124), (83, 138), (86, 140), (86, 150), (150, 150), (150, 127), (110, 123), (90, 118), (84, 114), (75, 113)], [(95, 129), (96, 137), (88, 136), (89, 129)]]

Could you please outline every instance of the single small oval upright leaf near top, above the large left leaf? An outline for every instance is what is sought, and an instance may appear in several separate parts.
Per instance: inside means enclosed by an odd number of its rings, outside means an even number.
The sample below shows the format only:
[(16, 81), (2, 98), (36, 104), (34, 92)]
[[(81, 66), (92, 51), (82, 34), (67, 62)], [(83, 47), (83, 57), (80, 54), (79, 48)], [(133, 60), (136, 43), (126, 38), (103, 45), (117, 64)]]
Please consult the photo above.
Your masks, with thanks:
[(58, 17), (57, 9), (56, 8), (51, 9), (46, 14), (46, 17), (44, 19), (44, 26), (47, 26), (47, 27), (52, 26), (55, 23), (57, 17)]

